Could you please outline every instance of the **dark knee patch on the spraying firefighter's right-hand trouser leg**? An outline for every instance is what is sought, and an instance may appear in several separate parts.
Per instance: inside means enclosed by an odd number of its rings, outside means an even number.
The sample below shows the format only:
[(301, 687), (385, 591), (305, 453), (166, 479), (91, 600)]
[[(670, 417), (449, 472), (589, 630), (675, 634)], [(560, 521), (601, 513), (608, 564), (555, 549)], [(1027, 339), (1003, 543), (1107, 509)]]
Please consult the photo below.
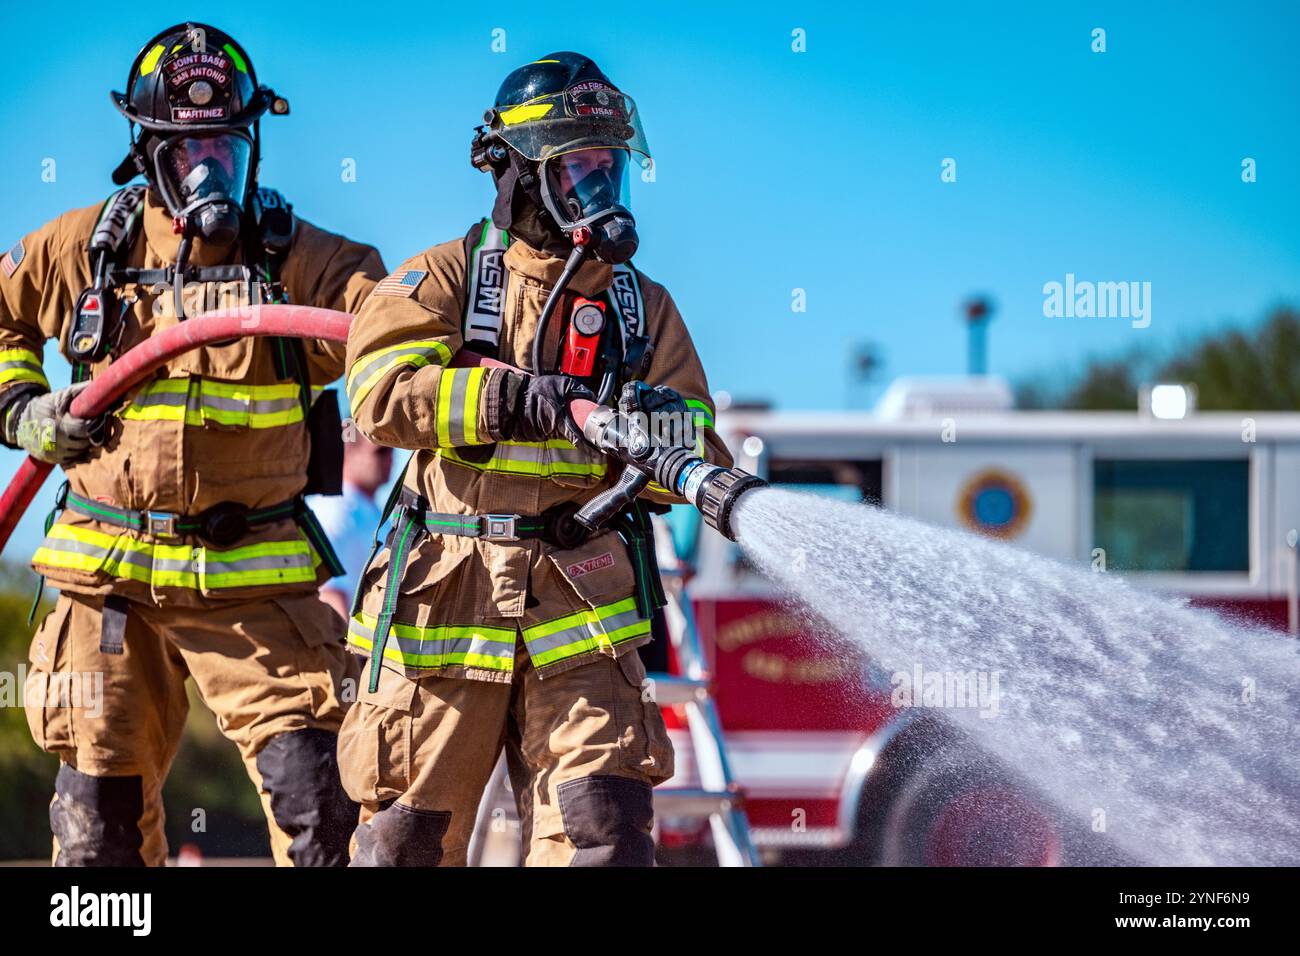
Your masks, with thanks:
[(555, 788), (564, 835), (577, 847), (569, 866), (654, 866), (650, 784), (629, 777), (582, 777)]

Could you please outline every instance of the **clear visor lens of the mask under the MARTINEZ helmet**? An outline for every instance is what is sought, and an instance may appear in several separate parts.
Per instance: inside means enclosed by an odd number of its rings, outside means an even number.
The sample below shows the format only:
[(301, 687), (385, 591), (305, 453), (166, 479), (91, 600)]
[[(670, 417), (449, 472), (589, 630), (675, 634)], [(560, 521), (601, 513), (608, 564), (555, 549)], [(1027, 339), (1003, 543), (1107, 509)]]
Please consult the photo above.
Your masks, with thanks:
[(204, 133), (170, 137), (153, 155), (159, 191), (173, 216), (199, 206), (243, 207), (251, 173), (252, 139), (247, 133)]

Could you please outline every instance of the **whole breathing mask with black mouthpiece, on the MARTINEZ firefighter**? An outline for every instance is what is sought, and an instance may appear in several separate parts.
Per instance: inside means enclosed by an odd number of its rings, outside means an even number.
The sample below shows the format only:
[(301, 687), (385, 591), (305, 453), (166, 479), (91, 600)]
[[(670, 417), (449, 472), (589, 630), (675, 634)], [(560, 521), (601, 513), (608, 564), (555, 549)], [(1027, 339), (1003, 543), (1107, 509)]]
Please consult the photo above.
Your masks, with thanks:
[(251, 157), (252, 138), (243, 131), (164, 139), (153, 153), (153, 169), (168, 211), (207, 242), (234, 242), (248, 191)]

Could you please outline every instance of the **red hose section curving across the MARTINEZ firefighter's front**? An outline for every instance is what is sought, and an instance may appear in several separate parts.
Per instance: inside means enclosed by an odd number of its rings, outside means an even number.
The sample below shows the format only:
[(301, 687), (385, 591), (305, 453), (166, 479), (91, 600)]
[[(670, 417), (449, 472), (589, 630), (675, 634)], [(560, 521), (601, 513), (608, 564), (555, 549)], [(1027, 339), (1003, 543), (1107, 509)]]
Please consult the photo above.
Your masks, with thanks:
[[(143, 380), (148, 378), (177, 355), (213, 342), (244, 336), (283, 336), (286, 338), (324, 338), (346, 342), (352, 316), (330, 308), (312, 306), (251, 306), (230, 312), (209, 312), (178, 323), (147, 338), (117, 359), (73, 401), (72, 414), (95, 418)], [(9, 542), (18, 519), (36, 497), (52, 464), (27, 458), (18, 473), (0, 496), (0, 551)]]

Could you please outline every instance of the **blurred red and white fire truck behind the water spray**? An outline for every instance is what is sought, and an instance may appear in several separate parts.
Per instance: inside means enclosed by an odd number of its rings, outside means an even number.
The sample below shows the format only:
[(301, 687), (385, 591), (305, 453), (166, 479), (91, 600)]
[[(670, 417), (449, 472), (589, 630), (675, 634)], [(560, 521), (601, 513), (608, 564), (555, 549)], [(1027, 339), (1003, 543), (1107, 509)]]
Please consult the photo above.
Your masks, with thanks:
[[(1158, 395), (1158, 393), (1157, 393)], [(890, 509), (1295, 633), (1300, 415), (1018, 411), (991, 378), (904, 380), (875, 412), (719, 414), (736, 464)], [(729, 771), (766, 862), (1078, 861), (1014, 767), (933, 711), (896, 708), (870, 661), (810, 633), (775, 584), (693, 509), (670, 516)], [(699, 786), (680, 709), (668, 787)], [(714, 835), (662, 813), (664, 855)]]

